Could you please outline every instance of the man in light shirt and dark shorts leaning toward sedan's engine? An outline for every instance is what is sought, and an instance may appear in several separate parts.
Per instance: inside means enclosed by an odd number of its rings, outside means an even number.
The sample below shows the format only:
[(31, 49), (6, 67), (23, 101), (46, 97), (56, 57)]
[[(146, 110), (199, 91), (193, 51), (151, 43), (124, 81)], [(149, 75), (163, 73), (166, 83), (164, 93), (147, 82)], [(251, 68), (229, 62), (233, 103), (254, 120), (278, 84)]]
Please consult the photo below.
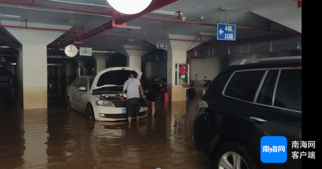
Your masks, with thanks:
[[(141, 86), (140, 80), (137, 78), (134, 78), (133, 74), (130, 74), (129, 79), (125, 81), (123, 90), (122, 90), (122, 96), (121, 100), (124, 98), (125, 90), (127, 90), (127, 98), (126, 98), (126, 113), (127, 113), (127, 120), (131, 122), (132, 120), (132, 114), (135, 114), (136, 121), (139, 122), (140, 118), (140, 109), (141, 109), (141, 103), (140, 103), (140, 92), (144, 93), (143, 88)], [(142, 95), (144, 98), (145, 96)]]

